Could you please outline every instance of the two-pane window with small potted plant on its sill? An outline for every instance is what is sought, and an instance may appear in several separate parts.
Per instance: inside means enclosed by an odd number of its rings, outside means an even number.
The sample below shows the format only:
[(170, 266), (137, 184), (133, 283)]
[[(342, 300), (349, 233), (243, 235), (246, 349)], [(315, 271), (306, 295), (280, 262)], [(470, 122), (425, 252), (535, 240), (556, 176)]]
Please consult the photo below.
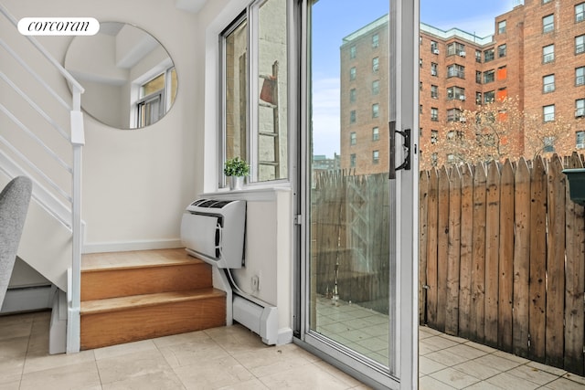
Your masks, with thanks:
[[(248, 161), (249, 183), (288, 177), (286, 11), (286, 4), (278, 0), (256, 2), (219, 36), (223, 117), (218, 167), (234, 157)], [(252, 29), (283, 39), (253, 37)], [(252, 90), (266, 92), (252, 94)], [(218, 177), (219, 186), (224, 186), (222, 172)]]

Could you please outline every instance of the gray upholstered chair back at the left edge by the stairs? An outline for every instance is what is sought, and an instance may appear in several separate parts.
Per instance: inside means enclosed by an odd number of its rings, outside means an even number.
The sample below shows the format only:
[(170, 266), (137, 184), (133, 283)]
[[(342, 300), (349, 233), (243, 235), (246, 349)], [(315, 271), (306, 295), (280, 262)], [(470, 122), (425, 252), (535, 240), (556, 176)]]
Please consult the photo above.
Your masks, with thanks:
[(0, 193), (0, 308), (15, 265), (32, 186), (28, 177), (17, 176)]

